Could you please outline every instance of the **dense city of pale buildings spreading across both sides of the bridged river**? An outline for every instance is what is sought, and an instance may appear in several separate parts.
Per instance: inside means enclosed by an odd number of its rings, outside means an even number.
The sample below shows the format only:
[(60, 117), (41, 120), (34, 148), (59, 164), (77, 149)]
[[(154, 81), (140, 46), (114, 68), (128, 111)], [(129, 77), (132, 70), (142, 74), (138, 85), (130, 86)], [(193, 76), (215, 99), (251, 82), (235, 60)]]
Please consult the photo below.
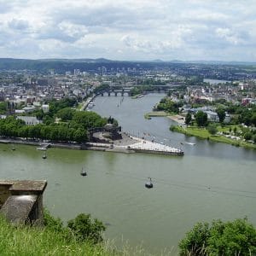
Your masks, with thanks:
[[(16, 62), (19, 63), (17, 60)], [(76, 108), (82, 109), (86, 108), (96, 95), (103, 96), (104, 93), (108, 96), (112, 94), (136, 97), (150, 92), (165, 92), (166, 98), (154, 110), (182, 114), (183, 118), (181, 116), (180, 119), (185, 119), (188, 113), (195, 119), (196, 113), (201, 111), (207, 114), (209, 122), (203, 126), (208, 125), (208, 130), (213, 135), (218, 129), (214, 129), (211, 123), (224, 123), (230, 125), (230, 132), (226, 129), (219, 132), (233, 139), (233, 142), (230, 140), (231, 143), (239, 145), (234, 143), (234, 140), (256, 142), (256, 82), (253, 69), (245, 72), (247, 66), (219, 65), (216, 68), (207, 64), (163, 65), (158, 62), (149, 63), (150, 65), (129, 63), (130, 67), (122, 67), (124, 63), (107, 62), (108, 68), (102, 66), (104, 63), (101, 61), (95, 61), (95, 70), (75, 68), (73, 71), (65, 71), (64, 74), (55, 72), (55, 69), (50, 69), (48, 73), (26, 69), (2, 71), (1, 119), (10, 114), (24, 120), (26, 125), (47, 124), (49, 119), (54, 118), (53, 113), (47, 114), (49, 102), (53, 100), (73, 99), (72, 104), (64, 107), (73, 107), (75, 103)], [(109, 67), (109, 62), (113, 66)], [(52, 109), (50, 111), (52, 112)], [(224, 118), (221, 117), (222, 112)], [(59, 122), (58, 114), (56, 118), (53, 120), (55, 124)], [(190, 125), (190, 120), (186, 124)], [(172, 128), (172, 131), (174, 130), (188, 132)], [(81, 131), (85, 132), (83, 128)], [(6, 134), (2, 131), (2, 135)], [(80, 137), (88, 136), (84, 134)], [(78, 140), (81, 142), (80, 138)], [(254, 148), (253, 144), (251, 147)]]

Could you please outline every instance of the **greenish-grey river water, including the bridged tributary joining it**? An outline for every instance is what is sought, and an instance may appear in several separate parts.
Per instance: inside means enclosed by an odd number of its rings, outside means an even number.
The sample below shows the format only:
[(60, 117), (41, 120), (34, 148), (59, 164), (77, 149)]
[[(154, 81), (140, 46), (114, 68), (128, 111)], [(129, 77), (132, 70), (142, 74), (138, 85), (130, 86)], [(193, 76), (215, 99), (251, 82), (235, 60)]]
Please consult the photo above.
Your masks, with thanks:
[[(172, 133), (171, 119), (144, 119), (162, 96), (99, 96), (92, 110), (136, 136), (183, 147), (183, 157), (50, 148), (43, 160), (35, 147), (0, 144), (0, 178), (47, 179), (44, 205), (55, 216), (90, 212), (108, 225), (105, 236), (115, 244), (128, 241), (150, 253), (176, 254), (198, 221), (247, 216), (256, 224), (256, 151)], [(79, 175), (82, 167), (87, 177)], [(153, 189), (145, 189), (147, 177)]]

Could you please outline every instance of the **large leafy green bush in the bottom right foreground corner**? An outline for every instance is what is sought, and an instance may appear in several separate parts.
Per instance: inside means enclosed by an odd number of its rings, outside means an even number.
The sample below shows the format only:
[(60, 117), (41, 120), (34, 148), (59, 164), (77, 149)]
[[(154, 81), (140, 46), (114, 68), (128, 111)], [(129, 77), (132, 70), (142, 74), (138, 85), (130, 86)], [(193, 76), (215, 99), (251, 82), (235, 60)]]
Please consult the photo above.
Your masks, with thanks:
[(181, 255), (255, 255), (256, 229), (247, 218), (198, 223), (179, 242)]

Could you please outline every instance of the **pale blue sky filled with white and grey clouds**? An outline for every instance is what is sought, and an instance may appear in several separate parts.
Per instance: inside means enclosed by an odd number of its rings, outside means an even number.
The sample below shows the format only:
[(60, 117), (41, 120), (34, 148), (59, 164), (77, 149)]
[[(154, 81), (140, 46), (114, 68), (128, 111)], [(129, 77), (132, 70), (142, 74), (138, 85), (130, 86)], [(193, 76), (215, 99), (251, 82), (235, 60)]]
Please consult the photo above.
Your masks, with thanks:
[(0, 0), (0, 57), (256, 61), (256, 0)]

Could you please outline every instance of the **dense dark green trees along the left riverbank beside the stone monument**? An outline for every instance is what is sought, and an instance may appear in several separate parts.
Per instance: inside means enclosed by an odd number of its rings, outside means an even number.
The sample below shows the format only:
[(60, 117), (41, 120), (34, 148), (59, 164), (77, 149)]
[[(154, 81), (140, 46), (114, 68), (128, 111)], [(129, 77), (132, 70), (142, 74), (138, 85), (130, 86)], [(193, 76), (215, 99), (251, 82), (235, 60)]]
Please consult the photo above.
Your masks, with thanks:
[(0, 119), (0, 135), (65, 143), (85, 143), (88, 141), (88, 130), (106, 125), (108, 119), (94, 112), (80, 112), (68, 107), (73, 103), (71, 99), (51, 101), (49, 113), (43, 113), (42, 110), (35, 111), (33, 114), (42, 119), (43, 124), (26, 125), (24, 121), (14, 116)]

